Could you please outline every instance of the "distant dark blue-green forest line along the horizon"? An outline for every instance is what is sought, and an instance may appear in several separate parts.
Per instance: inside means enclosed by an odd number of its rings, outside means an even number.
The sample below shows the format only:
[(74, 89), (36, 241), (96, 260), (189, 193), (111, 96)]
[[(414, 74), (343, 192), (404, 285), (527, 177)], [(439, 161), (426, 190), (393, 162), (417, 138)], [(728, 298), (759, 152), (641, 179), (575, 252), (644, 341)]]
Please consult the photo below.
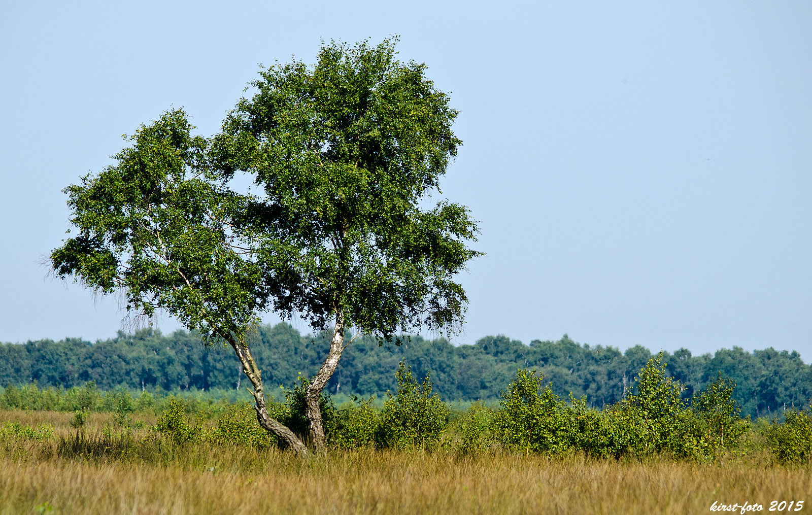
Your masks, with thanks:
[[(326, 355), (325, 335), (300, 335), (287, 323), (259, 327), (252, 348), (266, 389), (286, 388), (299, 374), (312, 376)], [(767, 415), (784, 406), (809, 405), (812, 366), (797, 352), (773, 348), (748, 353), (721, 349), (692, 356), (687, 349), (665, 353), (667, 372), (685, 385), (685, 398), (723, 375), (736, 381), (734, 396), (742, 415)], [(434, 392), (444, 400), (495, 400), (517, 368), (535, 368), (566, 398), (586, 396), (600, 408), (634, 392), (634, 377), (651, 357), (639, 345), (625, 353), (612, 347), (581, 345), (567, 335), (558, 341), (533, 340), (529, 346), (508, 337), (486, 336), (473, 345), (412, 336), (404, 344), (378, 345), (360, 338), (344, 351), (330, 380), (331, 393), (363, 396), (395, 390), (400, 360), (419, 377), (430, 373)], [(36, 382), (40, 387), (72, 387), (95, 381), (97, 387), (124, 386), (163, 390), (209, 390), (245, 387), (247, 381), (231, 348), (205, 345), (198, 335), (175, 331), (162, 335), (146, 329), (96, 343), (79, 339), (0, 344), (0, 384)]]

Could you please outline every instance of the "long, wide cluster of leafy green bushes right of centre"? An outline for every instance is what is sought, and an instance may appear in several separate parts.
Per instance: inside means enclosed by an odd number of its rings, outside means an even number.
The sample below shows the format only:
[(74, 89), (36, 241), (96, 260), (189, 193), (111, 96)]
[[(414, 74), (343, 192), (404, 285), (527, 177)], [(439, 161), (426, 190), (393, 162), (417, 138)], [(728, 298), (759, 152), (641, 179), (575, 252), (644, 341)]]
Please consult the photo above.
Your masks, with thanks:
[(688, 406), (682, 385), (665, 374), (662, 356), (641, 370), (637, 393), (603, 410), (572, 396), (564, 402), (542, 379), (535, 370), (516, 373), (490, 423), (495, 443), (546, 454), (706, 458), (735, 445), (749, 427), (727, 379), (719, 377)]

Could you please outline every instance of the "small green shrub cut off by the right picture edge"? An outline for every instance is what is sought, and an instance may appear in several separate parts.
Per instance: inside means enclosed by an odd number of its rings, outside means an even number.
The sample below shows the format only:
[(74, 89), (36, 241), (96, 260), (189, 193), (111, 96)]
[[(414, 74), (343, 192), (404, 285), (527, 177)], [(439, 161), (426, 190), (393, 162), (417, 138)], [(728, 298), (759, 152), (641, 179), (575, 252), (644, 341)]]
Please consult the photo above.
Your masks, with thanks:
[(788, 409), (784, 412), (784, 422), (774, 418), (765, 435), (780, 463), (812, 465), (812, 406)]

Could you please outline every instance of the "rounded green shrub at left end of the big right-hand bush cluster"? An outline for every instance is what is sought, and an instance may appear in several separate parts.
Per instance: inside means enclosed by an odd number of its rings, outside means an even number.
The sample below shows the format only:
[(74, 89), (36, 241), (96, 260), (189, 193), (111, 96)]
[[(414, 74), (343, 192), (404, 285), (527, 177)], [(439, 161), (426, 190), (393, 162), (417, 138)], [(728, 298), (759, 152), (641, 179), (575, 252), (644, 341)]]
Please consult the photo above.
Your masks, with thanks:
[(572, 447), (564, 401), (549, 384), (542, 391), (542, 379), (536, 370), (516, 370), (502, 393), (491, 428), (506, 448), (558, 454)]

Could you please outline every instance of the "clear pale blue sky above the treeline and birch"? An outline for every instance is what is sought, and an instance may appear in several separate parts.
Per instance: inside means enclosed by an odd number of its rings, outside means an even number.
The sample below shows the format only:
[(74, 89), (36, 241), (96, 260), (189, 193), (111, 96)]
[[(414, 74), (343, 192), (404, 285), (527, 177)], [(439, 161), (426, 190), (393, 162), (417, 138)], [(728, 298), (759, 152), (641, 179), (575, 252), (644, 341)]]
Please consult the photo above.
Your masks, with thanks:
[(461, 112), (443, 193), (482, 222), (457, 343), (812, 361), (812, 3), (128, 3), (0, 6), (0, 341), (121, 327), (38, 262), (123, 133), (184, 106), (213, 134), (258, 63), (400, 34)]

